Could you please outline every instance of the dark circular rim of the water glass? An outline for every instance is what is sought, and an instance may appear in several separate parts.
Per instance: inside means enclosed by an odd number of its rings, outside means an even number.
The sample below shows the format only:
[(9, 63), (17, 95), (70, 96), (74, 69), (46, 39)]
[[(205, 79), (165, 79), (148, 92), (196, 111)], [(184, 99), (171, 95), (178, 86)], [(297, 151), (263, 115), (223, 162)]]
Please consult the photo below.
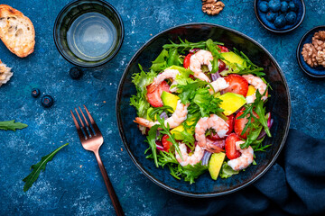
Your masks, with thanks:
[(76, 4), (76, 3), (83, 3), (83, 2), (88, 2), (88, 0), (74, 0), (74, 1), (71, 1), (70, 3), (66, 4), (61, 10), (60, 10), (60, 13), (57, 15), (57, 17), (55, 18), (55, 22), (54, 22), (54, 26), (53, 26), (53, 39), (54, 39), (54, 43), (55, 43), (55, 47), (58, 49), (58, 51), (60, 52), (60, 55), (66, 59), (68, 62), (70, 62), (70, 64), (72, 65), (75, 65), (75, 66), (78, 66), (78, 67), (85, 67), (85, 68), (92, 68), (92, 67), (100, 67), (100, 66), (103, 66), (105, 65), (108, 61), (110, 61), (111, 59), (115, 58), (116, 57), (116, 54), (119, 52), (119, 50), (121, 49), (122, 47), (122, 44), (123, 44), (123, 41), (124, 41), (124, 38), (125, 38), (125, 28), (124, 28), (124, 23), (123, 23), (123, 20), (121, 18), (121, 15), (117, 12), (116, 8), (112, 5), (112, 4), (109, 4), (107, 3), (107, 1), (105, 0), (91, 0), (92, 2), (99, 2), (99, 3), (102, 3), (102, 4), (106, 4), (107, 7), (109, 7), (114, 14), (116, 14), (116, 17), (117, 17), (117, 20), (118, 20), (118, 23), (119, 25), (121, 26), (121, 39), (118, 41), (118, 45), (117, 45), (117, 48), (116, 50), (113, 52), (113, 54), (109, 57), (109, 58), (106, 58), (105, 60), (103, 61), (99, 61), (97, 62), (96, 64), (90, 64), (90, 65), (85, 65), (85, 64), (82, 64), (82, 63), (79, 63), (77, 61), (73, 61), (70, 59), (70, 57), (68, 55), (66, 55), (61, 49), (60, 49), (60, 46), (59, 46), (59, 41), (57, 40), (56, 38), (56, 35), (57, 35), (57, 30), (56, 30), (56, 26), (58, 25), (59, 23), (59, 20), (63, 14), (64, 11), (66, 11), (67, 9), (69, 9), (69, 7), (73, 4)]

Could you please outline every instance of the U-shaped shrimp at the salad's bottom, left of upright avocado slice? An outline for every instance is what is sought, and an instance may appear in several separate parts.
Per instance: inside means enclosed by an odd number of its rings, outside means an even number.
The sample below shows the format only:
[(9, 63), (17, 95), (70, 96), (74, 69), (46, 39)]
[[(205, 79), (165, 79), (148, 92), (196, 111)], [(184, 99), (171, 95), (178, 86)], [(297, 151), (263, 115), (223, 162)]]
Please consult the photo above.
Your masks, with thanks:
[[(187, 165), (196, 165), (200, 162), (204, 155), (204, 150), (200, 148), (199, 145), (195, 147), (194, 153), (189, 156), (189, 153), (187, 152), (186, 145), (184, 143), (180, 143), (179, 145), (181, 150), (181, 156), (178, 154), (177, 151), (175, 151), (175, 156), (178, 162), (180, 162), (181, 166), (187, 166)], [(183, 159), (181, 159), (181, 157)]]

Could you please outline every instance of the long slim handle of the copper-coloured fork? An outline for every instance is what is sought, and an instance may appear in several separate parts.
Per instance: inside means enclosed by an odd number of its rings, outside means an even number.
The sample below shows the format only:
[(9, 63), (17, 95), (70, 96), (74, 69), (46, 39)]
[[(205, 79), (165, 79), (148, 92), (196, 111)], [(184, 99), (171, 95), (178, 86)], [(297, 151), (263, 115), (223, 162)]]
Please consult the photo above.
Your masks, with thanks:
[(111, 182), (110, 182), (110, 180), (108, 178), (106, 168), (103, 165), (103, 162), (102, 162), (102, 160), (101, 160), (101, 158), (99, 156), (98, 150), (94, 151), (94, 153), (95, 153), (96, 159), (98, 160), (98, 166), (99, 166), (100, 172), (103, 175), (104, 182), (105, 182), (105, 184), (107, 186), (107, 191), (108, 191), (109, 197), (110, 197), (111, 201), (113, 202), (113, 206), (114, 206), (114, 209), (116, 211), (116, 215), (117, 216), (124, 216), (125, 214), (123, 212), (123, 209), (121, 207), (120, 202), (118, 201), (118, 198), (117, 198), (116, 193), (114, 191), (113, 185), (111, 184)]

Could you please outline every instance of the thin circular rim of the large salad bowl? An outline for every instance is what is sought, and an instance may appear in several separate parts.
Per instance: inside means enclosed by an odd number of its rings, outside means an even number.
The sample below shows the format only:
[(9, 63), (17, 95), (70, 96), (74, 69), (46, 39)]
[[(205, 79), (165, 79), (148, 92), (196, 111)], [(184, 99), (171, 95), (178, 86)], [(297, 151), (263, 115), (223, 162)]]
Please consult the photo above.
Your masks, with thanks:
[[(263, 49), (265, 51), (265, 53), (267, 55), (269, 55), (269, 57), (274, 61), (275, 67), (277, 67), (278, 71), (280, 72), (280, 76), (283, 78), (283, 81), (284, 81), (283, 85), (284, 85), (285, 89), (287, 90), (287, 94), (288, 94), (287, 124), (285, 125), (285, 132), (284, 132), (283, 140), (282, 140), (282, 142), (280, 144), (280, 147), (278, 148), (277, 152), (275, 153), (273, 159), (269, 162), (269, 164), (265, 167), (265, 169), (261, 173), (256, 175), (251, 181), (247, 182), (246, 184), (242, 184), (242, 185), (238, 186), (237, 188), (234, 188), (232, 190), (225, 191), (225, 192), (218, 192), (218, 193), (189, 193), (189, 192), (184, 192), (184, 191), (181, 191), (181, 190), (178, 190), (178, 189), (174, 189), (171, 186), (169, 186), (167, 184), (164, 184), (163, 182), (157, 180), (149, 172), (145, 171), (144, 167), (142, 167), (137, 162), (137, 160), (135, 159), (135, 157), (134, 157), (133, 153), (131, 152), (130, 148), (128, 148), (128, 146), (126, 145), (127, 141), (125, 139), (125, 133), (124, 133), (124, 131), (122, 129), (122, 126), (121, 126), (121, 121), (122, 120), (121, 120), (121, 115), (120, 115), (119, 104), (120, 104), (120, 101), (121, 101), (122, 85), (123, 85), (123, 83), (125, 81), (127, 68), (130, 67), (131, 63), (134, 61), (135, 58), (137, 58), (140, 55), (140, 53), (143, 51), (143, 49), (145, 49), (149, 44), (151, 44), (151, 42), (153, 40), (155, 40), (161, 34), (165, 33), (166, 31), (171, 31), (171, 30), (174, 30), (174, 29), (177, 29), (177, 28), (180, 28), (180, 27), (187, 27), (187, 26), (192, 26), (192, 25), (208, 25), (208, 26), (218, 27), (218, 28), (221, 28), (221, 29), (224, 29), (224, 30), (227, 30), (227, 31), (231, 31), (233, 33), (237, 33), (239, 36), (245, 38), (246, 40), (250, 40), (253, 43), (255, 43), (255, 45), (257, 45), (258, 47)], [(124, 144), (124, 146), (126, 148), (126, 151), (127, 151), (128, 155), (131, 157), (132, 161), (135, 163), (135, 166), (137, 166), (146, 177), (148, 177), (151, 181), (153, 181), (154, 184), (157, 184), (157, 185), (163, 187), (167, 191), (170, 191), (172, 193), (177, 193), (177, 194), (180, 194), (180, 195), (184, 195), (184, 196), (188, 196), (188, 197), (196, 197), (196, 198), (215, 197), (215, 196), (225, 195), (225, 194), (228, 194), (228, 193), (237, 192), (238, 190), (246, 187), (247, 185), (254, 183), (257, 179), (259, 179), (262, 175), (264, 175), (266, 173), (266, 171), (274, 164), (274, 161), (279, 156), (279, 154), (280, 154), (280, 152), (281, 152), (281, 150), (282, 150), (282, 148), (284, 146), (285, 140), (287, 139), (288, 132), (289, 132), (289, 126), (290, 126), (290, 121), (291, 121), (291, 112), (292, 112), (292, 108), (291, 108), (291, 96), (290, 96), (289, 87), (287, 85), (287, 82), (286, 82), (285, 76), (283, 75), (283, 71), (282, 71), (281, 67), (276, 62), (275, 58), (271, 55), (271, 53), (269, 51), (267, 51), (261, 44), (259, 44), (257, 41), (250, 38), (246, 34), (240, 32), (240, 31), (236, 31), (236, 30), (233, 30), (231, 28), (222, 26), (222, 25), (214, 24), (214, 23), (184, 23), (184, 24), (180, 24), (180, 25), (174, 26), (172, 28), (166, 29), (164, 31), (161, 31), (161, 32), (157, 33), (156, 35), (154, 35), (151, 39), (147, 40), (144, 43), (144, 45), (135, 52), (135, 55), (130, 59), (127, 66), (125, 67), (125, 71), (124, 71), (124, 73), (123, 73), (123, 75), (121, 77), (120, 83), (119, 83), (118, 88), (117, 88), (117, 94), (116, 94), (116, 120), (117, 120), (118, 131), (119, 131), (120, 137), (121, 137), (121, 139), (123, 141), (123, 144)]]

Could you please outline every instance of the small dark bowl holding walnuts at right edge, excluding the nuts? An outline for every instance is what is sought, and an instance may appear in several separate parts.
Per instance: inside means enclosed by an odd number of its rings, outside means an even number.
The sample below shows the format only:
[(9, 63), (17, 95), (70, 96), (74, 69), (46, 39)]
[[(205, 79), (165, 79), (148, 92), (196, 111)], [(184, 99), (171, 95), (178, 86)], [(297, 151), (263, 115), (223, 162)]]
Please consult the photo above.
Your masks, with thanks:
[(302, 48), (305, 43), (311, 43), (313, 35), (318, 31), (325, 31), (325, 26), (317, 26), (312, 28), (310, 31), (307, 31), (303, 36), (302, 40), (300, 40), (297, 47), (297, 60), (300, 67), (302, 67), (302, 71), (305, 72), (308, 76), (315, 78), (325, 78), (325, 67), (311, 67), (309, 66), (302, 57)]

